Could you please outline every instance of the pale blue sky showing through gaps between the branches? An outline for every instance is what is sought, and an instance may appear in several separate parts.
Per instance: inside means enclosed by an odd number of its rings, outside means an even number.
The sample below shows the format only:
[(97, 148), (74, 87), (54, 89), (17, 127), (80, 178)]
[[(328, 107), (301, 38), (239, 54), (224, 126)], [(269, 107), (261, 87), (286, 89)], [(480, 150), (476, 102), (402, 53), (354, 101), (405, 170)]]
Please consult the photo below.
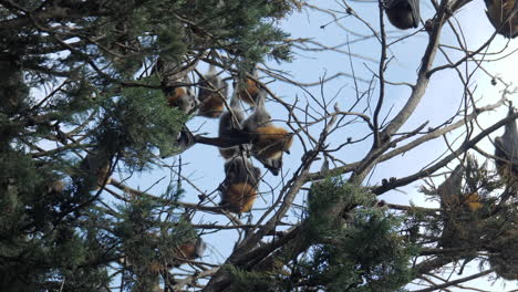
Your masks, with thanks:
[[(312, 10), (304, 9), (301, 12), (293, 13), (288, 20), (281, 21), (278, 24), (286, 31), (291, 33), (292, 39), (297, 38), (312, 38), (321, 43), (333, 46), (338, 44), (344, 44), (350, 42), (350, 45), (341, 46), (342, 50), (350, 50), (354, 54), (360, 54), (363, 58), (349, 58), (346, 54), (336, 52), (302, 52), (296, 50), (293, 62), (277, 64), (271, 61), (268, 62), (268, 66), (274, 69), (281, 69), (292, 75), (293, 80), (299, 82), (317, 82), (323, 76), (331, 76), (338, 72), (351, 73), (353, 70), (358, 76), (370, 80), (372, 77), (371, 71), (377, 72), (377, 63), (372, 60), (377, 60), (380, 54), (379, 43), (371, 39), (364, 41), (355, 41), (359, 36), (355, 33), (369, 34), (369, 30), (364, 25), (352, 17), (344, 14), (344, 8), (341, 7), (340, 2), (334, 1), (311, 1), (317, 6), (325, 8), (332, 8), (336, 10), (336, 13), (341, 18), (340, 24), (346, 28), (351, 32), (346, 32), (339, 28), (335, 23), (330, 23), (332, 20), (328, 14), (322, 12), (315, 12)], [(364, 18), (367, 22), (373, 23), (376, 28), (379, 11), (377, 2), (348, 2), (358, 14)], [(429, 2), (422, 2), (422, 19), (425, 21), (433, 17), (432, 7)], [(485, 4), (481, 0), (475, 0), (465, 6), (458, 13), (455, 14), (454, 23), (463, 28), (464, 39), (467, 46), (475, 50), (483, 44), (494, 32), (494, 28), (485, 15)], [(385, 19), (386, 20), (386, 19)], [(324, 27), (322, 27), (324, 25)], [(423, 25), (419, 24), (419, 29)], [(415, 32), (415, 30), (397, 31), (395, 28), (386, 23), (386, 30), (391, 36), (403, 36), (408, 33)], [(394, 59), (390, 63), (390, 67), (386, 71), (387, 80), (392, 82), (408, 82), (414, 83), (416, 79), (416, 71), (418, 69), (422, 52), (427, 42), (427, 34), (419, 32), (417, 35), (403, 40), (397, 44), (393, 45), (390, 50), (390, 54)], [(446, 29), (443, 35), (443, 43), (456, 44), (454, 35)], [(507, 46), (507, 48), (506, 48)], [(510, 43), (507, 42), (500, 35), (497, 35), (495, 41), (491, 43), (489, 51), (498, 51), (503, 48), (505, 52), (510, 53), (518, 49), (518, 40), (512, 40)], [(499, 54), (503, 56), (505, 54)], [(450, 53), (450, 58), (457, 60), (460, 54)], [(444, 64), (444, 58), (438, 55), (435, 64)], [(518, 65), (518, 54), (511, 54), (504, 60), (490, 62), (486, 67), (505, 79), (507, 82), (512, 82), (515, 85), (518, 83), (516, 67)], [(473, 69), (473, 64), (469, 69)], [(201, 71), (206, 70), (205, 65), (199, 67)], [(465, 67), (463, 67), (465, 70)], [(263, 76), (263, 75), (261, 75)], [(308, 93), (297, 88), (290, 84), (281, 81), (273, 81), (272, 79), (263, 79), (265, 81), (272, 81), (269, 83), (270, 88), (280, 97), (287, 102), (293, 102), (296, 98), (300, 101), (301, 105), (307, 102), (314, 106), (314, 102), (308, 96)], [(501, 85), (494, 86), (490, 84), (490, 77), (484, 74), (481, 71), (477, 71), (472, 80), (472, 88), (475, 90), (475, 97), (480, 98), (479, 105), (489, 104), (499, 98), (503, 90)], [(362, 91), (365, 91), (369, 86), (365, 82), (359, 82), (359, 86)], [(355, 102), (354, 94), (354, 82), (350, 77), (340, 77), (332, 82), (327, 83), (323, 87), (313, 86), (309, 91), (318, 98), (323, 96), (328, 100), (334, 97), (334, 103), (339, 103), (340, 108), (345, 111)], [(410, 88), (407, 86), (386, 86), (386, 100), (385, 106), (382, 111), (383, 114), (393, 115), (408, 98)], [(373, 92), (373, 98), (377, 96), (377, 86)], [(518, 104), (516, 94), (512, 96), (515, 104)], [(441, 72), (434, 75), (431, 80), (426, 94), (416, 108), (414, 116), (405, 124), (402, 131), (410, 131), (428, 121), (428, 126), (436, 126), (441, 124), (445, 118), (453, 116), (463, 101), (463, 87), (459, 86), (457, 73), (454, 71)], [(360, 112), (365, 106), (361, 103), (355, 112)], [(280, 106), (269, 102), (267, 107), (271, 112), (274, 119), (286, 119), (287, 112)], [(311, 111), (310, 111), (311, 112)], [(484, 114), (480, 117), (480, 125), (488, 126), (495, 121), (503, 118), (506, 114), (505, 109), (495, 111), (491, 113)], [(189, 122), (188, 126), (191, 129), (198, 129), (199, 133), (208, 133), (207, 136), (217, 135), (217, 119), (207, 119), (203, 117), (195, 117)], [(279, 123), (281, 125), (282, 123)], [(321, 125), (317, 125), (311, 131), (318, 133)], [(335, 133), (332, 137), (331, 145), (340, 145), (348, 137), (360, 138), (369, 131), (364, 124), (356, 123), (351, 126), (343, 128)], [(501, 129), (497, 132), (493, 137), (500, 135)], [(453, 142), (459, 132), (447, 135), (447, 139)], [(336, 156), (345, 163), (352, 163), (358, 160), (366, 153), (370, 147), (370, 140), (363, 144), (352, 145), (350, 147), (342, 148)], [(455, 144), (454, 144), (455, 145)], [(488, 139), (485, 139), (480, 144), (481, 148), (493, 153), (493, 146)], [(379, 165), (366, 184), (376, 185), (380, 184), (381, 179), (388, 177), (404, 177), (411, 175), (426, 165), (431, 164), (438, 155), (444, 154), (446, 150), (445, 142), (443, 138), (435, 139), (425, 146), (417, 147), (412, 152), (406, 153), (404, 156), (395, 157), (388, 163)], [(284, 179), (291, 178), (292, 169), (300, 164), (302, 156), (302, 147), (299, 140), (296, 140), (291, 155), (284, 156)], [(188, 177), (194, 184), (201, 188), (201, 190), (211, 192), (218, 185), (224, 180), (224, 159), (219, 156), (216, 147), (207, 145), (195, 145), (191, 149), (180, 155), (182, 161), (186, 163), (183, 167), (183, 175)], [(173, 163), (179, 157), (173, 157), (166, 159), (166, 163)], [(452, 164), (453, 166), (453, 164)], [(314, 165), (314, 170), (320, 168), (320, 164)], [(266, 170), (262, 169), (265, 173)], [(138, 186), (139, 189), (147, 189), (154, 185), (158, 179), (165, 177), (159, 184), (156, 184), (148, 192), (159, 195), (165, 190), (165, 186), (168, 181), (170, 174), (166, 171), (152, 171), (142, 175), (134, 175), (128, 181), (130, 186)], [(118, 178), (115, 175), (116, 178)], [(441, 182), (443, 177), (434, 179), (435, 182)], [(271, 186), (276, 186), (282, 181), (282, 177), (273, 177), (271, 174), (266, 174), (265, 180)], [(394, 204), (410, 204), (411, 201), (419, 206), (434, 206), (434, 202), (426, 201), (425, 197), (417, 192), (419, 184), (413, 184), (411, 186), (403, 187), (398, 191), (390, 191), (383, 196), (382, 199), (394, 202)], [(187, 184), (184, 185), (186, 195), (183, 201), (197, 202), (198, 192), (189, 187)], [(271, 205), (276, 197), (276, 192), (270, 191), (270, 187), (267, 184), (262, 184), (260, 190), (265, 192), (262, 198), (258, 198), (255, 205), (255, 211), (252, 218), (242, 216), (241, 220), (251, 220), (255, 222), (263, 209)], [(303, 202), (303, 194), (297, 198), (297, 204)], [(216, 197), (216, 201), (219, 198)], [(289, 212), (290, 217), (287, 220), (297, 221), (300, 218), (300, 211), (294, 210)], [(218, 222), (220, 225), (227, 223), (227, 218), (221, 215), (207, 215), (199, 213), (195, 217), (195, 223), (198, 222)], [(209, 244), (209, 250), (204, 257), (204, 261), (208, 262), (222, 262), (226, 259), (237, 240), (235, 231), (222, 230), (213, 234), (205, 234), (204, 240)], [(470, 264), (472, 268), (476, 264)], [(476, 267), (473, 268), (476, 271)], [(472, 269), (472, 271), (474, 271)], [(486, 279), (487, 280), (487, 279)], [(497, 281), (493, 286), (488, 285), (487, 281), (478, 281), (476, 283), (478, 288), (485, 288), (487, 291), (506, 291), (516, 288), (515, 283), (507, 283), (507, 286), (503, 286), (500, 281)], [(412, 286), (418, 289), (417, 286)], [(452, 289), (452, 291), (460, 291)]]

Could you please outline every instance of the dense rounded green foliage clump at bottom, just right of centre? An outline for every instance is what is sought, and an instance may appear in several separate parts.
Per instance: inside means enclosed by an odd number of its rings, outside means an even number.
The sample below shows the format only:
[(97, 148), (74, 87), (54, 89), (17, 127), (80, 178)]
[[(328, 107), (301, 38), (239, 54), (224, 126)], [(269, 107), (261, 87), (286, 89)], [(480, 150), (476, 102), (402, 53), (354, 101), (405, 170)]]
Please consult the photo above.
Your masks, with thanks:
[[(394, 291), (411, 280), (408, 260), (416, 250), (398, 234), (404, 217), (372, 207), (373, 195), (360, 186), (325, 179), (313, 184), (309, 200), (310, 254), (293, 267), (308, 286), (325, 291)], [(345, 200), (346, 222), (325, 213)]]

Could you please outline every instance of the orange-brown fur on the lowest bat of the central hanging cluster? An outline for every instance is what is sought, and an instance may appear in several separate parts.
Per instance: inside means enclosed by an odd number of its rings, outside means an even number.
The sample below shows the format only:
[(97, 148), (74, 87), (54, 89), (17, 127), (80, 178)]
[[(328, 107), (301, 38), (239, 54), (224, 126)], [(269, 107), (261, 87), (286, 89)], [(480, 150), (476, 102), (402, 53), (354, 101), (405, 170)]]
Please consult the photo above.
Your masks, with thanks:
[(256, 189), (246, 182), (230, 185), (225, 191), (224, 208), (235, 213), (249, 212), (256, 197)]

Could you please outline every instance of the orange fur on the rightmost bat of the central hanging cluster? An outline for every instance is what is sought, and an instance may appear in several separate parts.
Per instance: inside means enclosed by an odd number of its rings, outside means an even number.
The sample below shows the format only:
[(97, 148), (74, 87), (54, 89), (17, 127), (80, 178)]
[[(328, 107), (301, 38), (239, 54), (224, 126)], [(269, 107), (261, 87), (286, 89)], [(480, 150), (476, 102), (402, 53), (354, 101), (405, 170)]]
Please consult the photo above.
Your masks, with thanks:
[(252, 152), (270, 159), (280, 158), (282, 152), (288, 152), (293, 143), (291, 133), (276, 126), (258, 127), (255, 132)]

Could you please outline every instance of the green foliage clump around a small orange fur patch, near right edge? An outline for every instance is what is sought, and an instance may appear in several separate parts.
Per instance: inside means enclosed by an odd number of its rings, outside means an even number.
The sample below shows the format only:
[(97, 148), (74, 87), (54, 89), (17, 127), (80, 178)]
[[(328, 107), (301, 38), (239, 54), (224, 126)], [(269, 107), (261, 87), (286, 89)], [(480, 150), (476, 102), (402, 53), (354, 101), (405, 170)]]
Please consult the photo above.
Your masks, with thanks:
[(439, 216), (426, 218), (416, 212), (414, 219), (422, 222), (428, 236), (438, 239), (437, 247), (457, 249), (455, 254), (469, 258), (475, 254), (475, 244), (483, 238), (490, 238), (488, 231), (490, 234), (490, 230), (500, 230), (501, 218), (496, 215), (507, 216), (508, 206), (501, 205), (499, 212), (495, 212), (497, 198), (489, 195), (504, 181), (487, 169), (487, 163), (480, 165), (473, 156), (467, 156), (460, 175), (457, 191), (445, 188), (444, 182), (438, 187), (421, 187), (419, 191), (439, 200), (443, 209)]

